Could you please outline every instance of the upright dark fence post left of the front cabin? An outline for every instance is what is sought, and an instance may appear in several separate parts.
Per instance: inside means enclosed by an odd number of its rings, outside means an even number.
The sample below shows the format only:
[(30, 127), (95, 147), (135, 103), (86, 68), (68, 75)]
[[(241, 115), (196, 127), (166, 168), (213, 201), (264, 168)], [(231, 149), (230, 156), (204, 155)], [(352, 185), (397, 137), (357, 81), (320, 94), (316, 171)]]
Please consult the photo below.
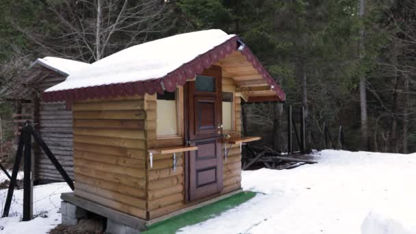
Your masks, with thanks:
[[(23, 131), (25, 129), (25, 131)], [(23, 221), (29, 221), (33, 218), (33, 183), (31, 183), (31, 126), (29, 121), (25, 122), (22, 128), (22, 134), (25, 138), (25, 164), (23, 177)]]

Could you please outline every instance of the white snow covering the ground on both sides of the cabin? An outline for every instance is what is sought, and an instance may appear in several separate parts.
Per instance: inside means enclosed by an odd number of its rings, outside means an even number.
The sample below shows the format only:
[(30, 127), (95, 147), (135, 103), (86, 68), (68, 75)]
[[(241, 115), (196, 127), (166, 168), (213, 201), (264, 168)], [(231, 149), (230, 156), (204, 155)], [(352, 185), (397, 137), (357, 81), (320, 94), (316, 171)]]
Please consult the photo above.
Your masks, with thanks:
[[(259, 192), (255, 198), (181, 233), (416, 233), (416, 154), (328, 150), (315, 157), (319, 164), (243, 172), (242, 186)], [(68, 185), (34, 190), (34, 213), (47, 211), (47, 218), (18, 222), (23, 190), (17, 190), (14, 216), (0, 219), (0, 234), (47, 233), (60, 223), (60, 193)], [(6, 192), (0, 190), (1, 209)]]

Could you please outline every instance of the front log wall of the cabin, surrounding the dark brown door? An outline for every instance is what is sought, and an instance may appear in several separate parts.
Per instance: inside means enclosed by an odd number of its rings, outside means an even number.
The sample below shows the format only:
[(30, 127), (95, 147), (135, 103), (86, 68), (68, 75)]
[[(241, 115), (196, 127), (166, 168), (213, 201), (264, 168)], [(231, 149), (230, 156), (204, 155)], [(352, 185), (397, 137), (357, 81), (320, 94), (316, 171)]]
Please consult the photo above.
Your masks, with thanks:
[[(235, 93), (235, 83), (233, 79), (223, 77), (223, 92), (234, 93), (234, 131), (230, 135), (241, 135), (241, 99), (239, 94)], [(146, 112), (146, 148), (157, 148), (165, 146), (182, 146), (184, 144), (182, 138), (170, 138), (157, 140), (156, 136), (156, 94), (144, 96), (145, 112)], [(183, 111), (183, 110), (181, 110)], [(170, 113), (166, 113), (170, 114)], [(174, 114), (174, 113), (172, 113)], [(182, 134), (183, 136), (183, 134)], [(224, 151), (222, 151), (224, 153)], [(179, 156), (180, 155), (180, 156)], [(183, 153), (177, 153), (177, 169), (174, 172), (173, 155), (153, 155), (153, 168), (147, 168), (147, 194), (146, 203), (148, 211), (148, 219), (158, 218), (173, 211), (183, 209), (190, 205), (194, 205), (200, 201), (185, 203), (185, 167)], [(146, 155), (146, 161), (149, 161)], [(227, 161), (224, 160), (223, 166), (223, 184), (224, 188), (220, 194), (226, 194), (237, 190), (241, 187), (241, 158), (239, 145), (233, 145), (229, 151)], [(212, 198), (209, 197), (209, 198)]]

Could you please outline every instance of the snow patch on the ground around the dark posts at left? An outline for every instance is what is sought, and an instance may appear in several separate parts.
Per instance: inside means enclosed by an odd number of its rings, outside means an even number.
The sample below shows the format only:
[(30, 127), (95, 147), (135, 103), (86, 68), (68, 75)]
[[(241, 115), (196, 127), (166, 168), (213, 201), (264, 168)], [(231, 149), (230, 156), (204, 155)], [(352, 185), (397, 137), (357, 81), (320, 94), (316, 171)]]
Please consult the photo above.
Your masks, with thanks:
[[(3, 211), (8, 190), (0, 190), (1, 211)], [(8, 218), (0, 218), (1, 234), (47, 233), (61, 223), (61, 193), (70, 192), (66, 183), (51, 183), (34, 187), (34, 216), (29, 222), (19, 222), (23, 213), (23, 189), (14, 190)], [(3, 213), (3, 212), (2, 212)]]

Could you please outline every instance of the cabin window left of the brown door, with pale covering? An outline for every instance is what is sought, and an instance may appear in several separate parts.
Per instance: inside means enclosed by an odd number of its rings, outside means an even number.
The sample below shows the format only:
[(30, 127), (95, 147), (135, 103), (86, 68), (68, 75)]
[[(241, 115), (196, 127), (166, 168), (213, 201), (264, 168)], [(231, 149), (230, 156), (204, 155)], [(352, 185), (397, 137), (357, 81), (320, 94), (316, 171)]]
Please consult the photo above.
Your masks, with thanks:
[(157, 138), (180, 136), (179, 124), (179, 90), (157, 94), (156, 133)]

